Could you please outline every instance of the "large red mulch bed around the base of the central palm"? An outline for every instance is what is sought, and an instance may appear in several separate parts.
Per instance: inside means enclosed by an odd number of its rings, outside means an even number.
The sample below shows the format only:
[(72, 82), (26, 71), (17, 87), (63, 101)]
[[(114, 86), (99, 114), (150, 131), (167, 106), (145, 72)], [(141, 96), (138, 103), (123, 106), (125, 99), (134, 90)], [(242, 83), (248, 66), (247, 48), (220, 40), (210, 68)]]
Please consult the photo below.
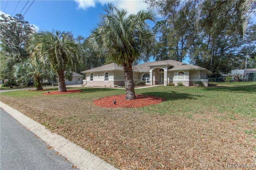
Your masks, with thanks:
[[(114, 100), (116, 104), (114, 104)], [(94, 100), (93, 103), (100, 107), (143, 107), (152, 104), (158, 104), (160, 102), (165, 101), (164, 98), (156, 97), (156, 96), (148, 96), (148, 95), (136, 95), (136, 99), (134, 100), (125, 100), (124, 95), (118, 96), (108, 96), (105, 98), (101, 98), (98, 100)]]

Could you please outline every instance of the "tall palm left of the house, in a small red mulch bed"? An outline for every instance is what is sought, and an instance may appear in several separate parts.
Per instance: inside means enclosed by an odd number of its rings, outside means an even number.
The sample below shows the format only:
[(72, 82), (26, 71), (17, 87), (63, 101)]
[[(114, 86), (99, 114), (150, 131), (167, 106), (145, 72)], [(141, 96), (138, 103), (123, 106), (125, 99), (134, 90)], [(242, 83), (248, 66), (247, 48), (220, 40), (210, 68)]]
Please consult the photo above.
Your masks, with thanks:
[(30, 41), (32, 55), (40, 56), (45, 63), (57, 72), (58, 91), (66, 92), (64, 71), (66, 67), (75, 67), (82, 51), (80, 45), (67, 38), (63, 31), (40, 31)]

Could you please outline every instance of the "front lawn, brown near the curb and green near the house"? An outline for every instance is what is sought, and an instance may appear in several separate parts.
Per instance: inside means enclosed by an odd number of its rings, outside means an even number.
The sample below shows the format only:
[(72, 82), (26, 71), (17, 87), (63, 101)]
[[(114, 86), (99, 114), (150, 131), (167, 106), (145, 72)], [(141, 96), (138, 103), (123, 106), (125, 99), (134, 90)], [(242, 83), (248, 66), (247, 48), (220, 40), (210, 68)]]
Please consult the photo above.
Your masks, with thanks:
[(256, 83), (136, 89), (166, 99), (139, 108), (93, 104), (124, 89), (76, 89), (83, 92), (3, 92), (1, 102), (119, 169), (216, 170), (256, 163)]

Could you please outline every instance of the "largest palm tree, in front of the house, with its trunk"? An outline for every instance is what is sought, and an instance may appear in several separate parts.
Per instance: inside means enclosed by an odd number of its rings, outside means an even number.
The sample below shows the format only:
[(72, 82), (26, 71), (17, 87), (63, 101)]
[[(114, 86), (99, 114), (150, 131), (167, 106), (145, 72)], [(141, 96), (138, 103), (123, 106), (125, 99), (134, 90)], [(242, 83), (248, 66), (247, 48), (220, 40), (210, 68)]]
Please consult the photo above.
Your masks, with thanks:
[(129, 14), (125, 9), (118, 9), (112, 4), (104, 6), (106, 14), (91, 32), (88, 41), (96, 51), (106, 50), (106, 54), (115, 63), (124, 67), (126, 100), (135, 99), (132, 64), (148, 54), (155, 43), (155, 37), (146, 20), (156, 20), (152, 10), (141, 10)]

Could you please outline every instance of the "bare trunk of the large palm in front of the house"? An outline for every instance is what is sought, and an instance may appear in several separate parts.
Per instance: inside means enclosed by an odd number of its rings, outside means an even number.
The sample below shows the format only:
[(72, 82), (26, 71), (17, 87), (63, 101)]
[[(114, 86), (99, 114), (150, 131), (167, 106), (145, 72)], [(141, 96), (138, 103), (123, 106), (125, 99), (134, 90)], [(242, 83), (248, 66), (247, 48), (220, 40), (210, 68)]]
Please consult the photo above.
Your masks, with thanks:
[(134, 92), (134, 81), (133, 81), (133, 72), (132, 64), (124, 64), (124, 79), (125, 79), (125, 91), (126, 91), (126, 100), (136, 99)]

